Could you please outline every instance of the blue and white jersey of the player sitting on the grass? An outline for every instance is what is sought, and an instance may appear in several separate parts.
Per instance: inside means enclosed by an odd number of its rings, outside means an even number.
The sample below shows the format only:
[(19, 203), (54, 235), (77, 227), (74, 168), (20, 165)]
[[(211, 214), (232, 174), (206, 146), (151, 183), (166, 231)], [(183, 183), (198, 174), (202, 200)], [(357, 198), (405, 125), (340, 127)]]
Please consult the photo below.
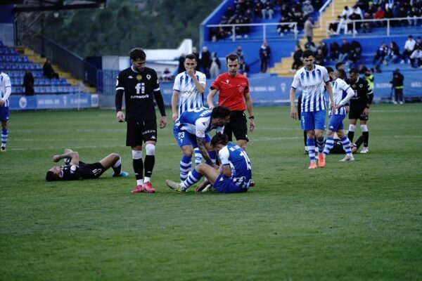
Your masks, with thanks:
[(252, 167), (246, 152), (238, 145), (228, 143), (218, 152), (223, 166), (230, 165), (231, 181), (239, 188), (249, 188), (252, 178)]

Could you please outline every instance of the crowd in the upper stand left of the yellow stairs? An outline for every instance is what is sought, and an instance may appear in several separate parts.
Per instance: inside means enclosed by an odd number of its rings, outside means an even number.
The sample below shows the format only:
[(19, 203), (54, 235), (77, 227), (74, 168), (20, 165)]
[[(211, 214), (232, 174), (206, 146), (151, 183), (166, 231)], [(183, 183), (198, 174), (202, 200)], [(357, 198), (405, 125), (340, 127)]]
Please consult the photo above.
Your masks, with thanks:
[[(233, 6), (229, 6), (219, 21), (219, 25), (248, 24), (262, 19), (271, 19), (280, 16), (280, 25), (276, 30), (280, 36), (288, 32), (303, 30), (305, 19), (312, 16), (314, 11), (321, 8), (322, 0), (235, 0)], [(282, 22), (298, 22), (295, 25), (282, 25)], [(250, 32), (248, 26), (236, 26), (236, 38), (247, 38)], [(210, 39), (212, 41), (224, 40), (231, 37), (231, 27), (212, 27)]]

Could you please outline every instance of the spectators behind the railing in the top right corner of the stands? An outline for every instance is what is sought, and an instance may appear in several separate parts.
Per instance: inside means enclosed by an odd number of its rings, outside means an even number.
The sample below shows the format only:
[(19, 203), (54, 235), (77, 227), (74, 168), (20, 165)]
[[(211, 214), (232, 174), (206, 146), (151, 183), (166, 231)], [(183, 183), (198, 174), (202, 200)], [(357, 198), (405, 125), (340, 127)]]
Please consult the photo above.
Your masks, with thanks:
[[(356, 5), (345, 6), (337, 20), (328, 26), (331, 34), (369, 33), (373, 27), (384, 27), (387, 22), (383, 19), (402, 18), (391, 20), (391, 27), (418, 26), (422, 24), (422, 0), (361, 0)], [(354, 20), (365, 20), (355, 22)], [(380, 21), (373, 21), (380, 20)], [(382, 21), (381, 21), (382, 20)]]

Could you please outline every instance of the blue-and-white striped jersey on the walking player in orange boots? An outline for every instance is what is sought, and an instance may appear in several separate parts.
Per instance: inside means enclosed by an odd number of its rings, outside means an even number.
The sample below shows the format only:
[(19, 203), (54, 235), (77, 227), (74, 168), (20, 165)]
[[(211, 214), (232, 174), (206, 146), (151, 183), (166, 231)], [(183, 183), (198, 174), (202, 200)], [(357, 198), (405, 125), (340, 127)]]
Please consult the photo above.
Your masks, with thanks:
[(314, 65), (314, 70), (302, 67), (293, 78), (292, 88), (302, 86), (302, 112), (314, 112), (326, 109), (325, 84), (330, 81), (328, 72), (321, 65)]

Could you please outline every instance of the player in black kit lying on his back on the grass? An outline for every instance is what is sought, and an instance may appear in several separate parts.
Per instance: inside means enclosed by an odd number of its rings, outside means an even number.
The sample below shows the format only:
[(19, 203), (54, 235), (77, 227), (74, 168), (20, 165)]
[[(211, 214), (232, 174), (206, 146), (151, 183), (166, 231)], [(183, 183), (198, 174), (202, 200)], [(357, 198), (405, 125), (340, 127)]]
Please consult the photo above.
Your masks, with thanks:
[(129, 176), (122, 171), (122, 158), (117, 153), (107, 155), (100, 162), (94, 164), (85, 164), (79, 161), (79, 153), (65, 149), (62, 155), (54, 155), (53, 162), (59, 162), (65, 159), (64, 166), (53, 166), (46, 174), (46, 181), (72, 181), (87, 178), (99, 178), (107, 169), (113, 168), (113, 176)]

